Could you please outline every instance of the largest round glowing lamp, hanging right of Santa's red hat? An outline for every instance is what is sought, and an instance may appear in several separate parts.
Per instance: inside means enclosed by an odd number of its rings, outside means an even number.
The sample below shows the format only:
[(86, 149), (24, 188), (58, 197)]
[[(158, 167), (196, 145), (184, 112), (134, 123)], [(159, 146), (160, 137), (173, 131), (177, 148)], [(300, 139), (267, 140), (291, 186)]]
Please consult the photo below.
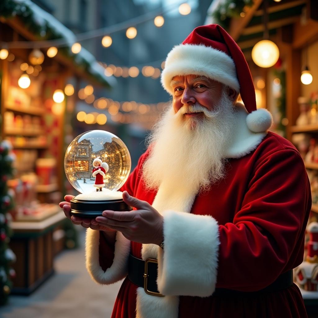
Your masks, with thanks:
[(260, 67), (271, 67), (279, 58), (278, 46), (269, 40), (261, 40), (252, 49), (252, 59)]

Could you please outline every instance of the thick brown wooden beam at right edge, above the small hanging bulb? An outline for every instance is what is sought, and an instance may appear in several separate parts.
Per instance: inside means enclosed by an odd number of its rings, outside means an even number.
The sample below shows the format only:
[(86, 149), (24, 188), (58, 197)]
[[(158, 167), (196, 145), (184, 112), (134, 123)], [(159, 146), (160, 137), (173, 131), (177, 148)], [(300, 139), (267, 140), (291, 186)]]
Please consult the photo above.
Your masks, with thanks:
[(294, 25), (293, 47), (295, 49), (302, 48), (316, 40), (318, 40), (318, 22), (312, 19), (306, 21), (298, 19)]

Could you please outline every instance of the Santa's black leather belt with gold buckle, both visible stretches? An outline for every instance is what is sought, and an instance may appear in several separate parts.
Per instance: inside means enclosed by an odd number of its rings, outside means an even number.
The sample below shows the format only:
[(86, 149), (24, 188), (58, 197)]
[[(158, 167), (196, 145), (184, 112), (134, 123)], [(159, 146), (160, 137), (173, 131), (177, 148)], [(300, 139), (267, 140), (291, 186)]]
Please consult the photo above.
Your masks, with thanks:
[[(145, 292), (150, 295), (163, 296), (159, 293), (157, 287), (157, 259), (138, 259), (133, 255), (129, 255), (128, 259), (128, 278), (129, 280), (139, 287), (143, 287)], [(294, 284), (293, 282), (293, 270), (289, 270), (283, 274), (280, 274), (278, 278), (269, 286), (253, 292), (241, 292), (233, 289), (215, 288), (213, 296), (221, 295), (255, 295), (255, 293), (273, 292), (276, 290), (288, 288)]]

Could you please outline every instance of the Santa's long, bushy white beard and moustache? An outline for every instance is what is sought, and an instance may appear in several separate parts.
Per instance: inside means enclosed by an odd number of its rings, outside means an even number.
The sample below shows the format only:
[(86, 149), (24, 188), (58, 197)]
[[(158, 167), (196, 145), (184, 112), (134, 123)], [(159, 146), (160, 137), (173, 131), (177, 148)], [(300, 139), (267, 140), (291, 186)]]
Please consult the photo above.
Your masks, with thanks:
[[(189, 112), (204, 116), (186, 118)], [(212, 111), (195, 104), (183, 105), (174, 114), (169, 107), (148, 137), (150, 154), (143, 165), (147, 188), (158, 190), (164, 183), (166, 189), (187, 187), (198, 193), (223, 179), (236, 113), (225, 89)]]

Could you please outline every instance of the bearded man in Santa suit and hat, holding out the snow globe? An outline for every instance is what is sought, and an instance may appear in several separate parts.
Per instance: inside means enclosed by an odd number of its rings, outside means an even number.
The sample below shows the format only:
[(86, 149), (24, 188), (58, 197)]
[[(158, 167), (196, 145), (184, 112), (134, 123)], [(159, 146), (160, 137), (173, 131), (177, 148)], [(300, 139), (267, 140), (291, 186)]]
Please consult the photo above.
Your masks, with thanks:
[(112, 317), (306, 317), (292, 269), (310, 184), (297, 149), (256, 110), (240, 48), (216, 24), (197, 27), (161, 81), (172, 105), (121, 188), (135, 210), (71, 218), (87, 228), (93, 280), (124, 279)]

